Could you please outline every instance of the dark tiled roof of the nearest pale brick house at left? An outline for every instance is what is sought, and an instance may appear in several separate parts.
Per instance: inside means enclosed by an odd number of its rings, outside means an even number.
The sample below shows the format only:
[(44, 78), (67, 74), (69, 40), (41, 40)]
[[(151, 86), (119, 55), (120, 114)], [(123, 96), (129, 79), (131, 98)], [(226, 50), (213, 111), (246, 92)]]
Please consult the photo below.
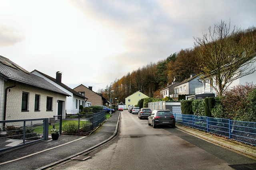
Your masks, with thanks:
[(34, 86), (36, 88), (41, 88), (50, 92), (62, 94), (64, 96), (70, 96), (66, 92), (60, 90), (50, 82), (46, 81), (44, 78), (41, 78), (28, 72), (24, 68), (20, 67), (18, 64), (15, 64), (9, 59), (2, 56), (0, 56), (0, 78), (2, 78), (5, 81), (16, 81), (29, 86)]

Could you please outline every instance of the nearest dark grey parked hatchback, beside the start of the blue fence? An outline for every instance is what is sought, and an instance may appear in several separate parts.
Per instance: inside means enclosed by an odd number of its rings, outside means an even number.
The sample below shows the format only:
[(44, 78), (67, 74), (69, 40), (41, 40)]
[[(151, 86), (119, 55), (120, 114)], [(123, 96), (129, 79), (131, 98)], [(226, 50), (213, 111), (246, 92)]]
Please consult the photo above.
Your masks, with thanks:
[(175, 127), (175, 118), (172, 112), (166, 110), (153, 110), (148, 116), (148, 125), (153, 125), (153, 128), (159, 125), (171, 125)]

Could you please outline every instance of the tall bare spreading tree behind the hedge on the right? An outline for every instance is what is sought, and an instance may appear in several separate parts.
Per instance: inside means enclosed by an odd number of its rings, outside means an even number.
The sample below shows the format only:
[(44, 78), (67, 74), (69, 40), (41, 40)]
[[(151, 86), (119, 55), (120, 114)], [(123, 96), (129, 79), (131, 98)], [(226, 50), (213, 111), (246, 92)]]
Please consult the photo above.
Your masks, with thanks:
[(194, 37), (195, 49), (202, 74), (214, 80), (216, 86), (212, 87), (222, 96), (234, 80), (256, 70), (256, 28), (242, 31), (221, 21), (208, 30), (202, 38)]

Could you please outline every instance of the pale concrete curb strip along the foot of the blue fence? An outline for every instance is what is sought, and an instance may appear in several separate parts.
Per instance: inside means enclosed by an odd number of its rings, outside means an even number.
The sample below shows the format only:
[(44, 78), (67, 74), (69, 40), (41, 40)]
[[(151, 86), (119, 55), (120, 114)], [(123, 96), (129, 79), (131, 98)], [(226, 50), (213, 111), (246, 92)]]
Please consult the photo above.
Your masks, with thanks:
[(197, 131), (196, 129), (191, 129), (191, 128), (184, 127), (184, 126), (177, 125), (177, 124), (176, 124), (176, 128), (181, 130), (181, 131), (184, 131), (186, 133), (190, 133), (191, 135), (194, 135), (198, 138), (204, 139), (206, 141), (210, 141), (210, 142), (218, 144), (222, 147), (227, 147), (229, 149), (233, 149), (233, 150), (236, 150), (238, 152), (242, 152), (243, 154), (247, 154), (249, 156), (253, 156), (253, 157), (256, 158), (256, 150), (253, 149), (250, 146), (246, 146), (246, 145), (244, 145), (242, 143), (238, 143), (236, 141), (223, 139), (221, 137), (208, 135), (206, 133)]

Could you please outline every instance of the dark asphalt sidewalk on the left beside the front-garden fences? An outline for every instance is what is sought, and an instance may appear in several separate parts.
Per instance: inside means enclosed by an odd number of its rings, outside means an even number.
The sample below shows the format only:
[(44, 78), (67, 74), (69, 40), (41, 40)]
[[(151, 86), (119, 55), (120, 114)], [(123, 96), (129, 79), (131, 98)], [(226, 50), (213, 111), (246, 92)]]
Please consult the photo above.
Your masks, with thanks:
[(117, 132), (120, 112), (117, 111), (91, 135), (60, 135), (48, 140), (0, 152), (0, 169), (41, 169), (62, 162), (108, 141)]

